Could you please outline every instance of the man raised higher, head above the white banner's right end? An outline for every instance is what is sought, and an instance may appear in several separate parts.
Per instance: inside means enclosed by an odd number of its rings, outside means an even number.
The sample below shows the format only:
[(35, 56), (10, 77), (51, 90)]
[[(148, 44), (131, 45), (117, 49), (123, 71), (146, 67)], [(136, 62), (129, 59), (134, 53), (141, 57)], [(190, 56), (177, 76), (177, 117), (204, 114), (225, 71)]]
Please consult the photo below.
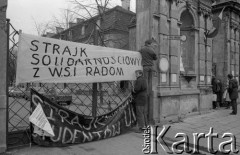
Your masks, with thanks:
[(154, 52), (152, 47), (153, 40), (146, 40), (145, 45), (140, 49), (140, 53), (142, 55), (142, 65), (143, 65), (143, 72), (144, 77), (148, 82), (149, 74), (153, 70), (153, 61), (157, 60), (157, 55)]

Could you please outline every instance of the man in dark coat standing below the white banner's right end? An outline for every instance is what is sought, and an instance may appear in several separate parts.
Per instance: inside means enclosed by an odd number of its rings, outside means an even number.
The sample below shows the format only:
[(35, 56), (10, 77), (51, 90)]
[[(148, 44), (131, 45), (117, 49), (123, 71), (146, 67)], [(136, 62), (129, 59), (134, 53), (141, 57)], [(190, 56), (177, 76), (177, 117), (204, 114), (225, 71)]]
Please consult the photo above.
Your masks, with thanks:
[(139, 130), (142, 132), (143, 128), (147, 126), (147, 81), (143, 77), (141, 70), (136, 71), (137, 80), (134, 84), (133, 95), (136, 107), (137, 123)]

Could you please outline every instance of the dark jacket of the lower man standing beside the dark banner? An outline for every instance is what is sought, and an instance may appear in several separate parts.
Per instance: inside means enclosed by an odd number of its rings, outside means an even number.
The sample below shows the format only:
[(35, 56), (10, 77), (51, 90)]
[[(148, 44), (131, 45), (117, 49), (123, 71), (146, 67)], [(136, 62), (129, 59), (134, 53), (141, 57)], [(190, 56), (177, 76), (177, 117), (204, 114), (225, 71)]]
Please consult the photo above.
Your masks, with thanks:
[(134, 84), (133, 97), (136, 106), (144, 106), (147, 103), (147, 81), (143, 76), (138, 77)]

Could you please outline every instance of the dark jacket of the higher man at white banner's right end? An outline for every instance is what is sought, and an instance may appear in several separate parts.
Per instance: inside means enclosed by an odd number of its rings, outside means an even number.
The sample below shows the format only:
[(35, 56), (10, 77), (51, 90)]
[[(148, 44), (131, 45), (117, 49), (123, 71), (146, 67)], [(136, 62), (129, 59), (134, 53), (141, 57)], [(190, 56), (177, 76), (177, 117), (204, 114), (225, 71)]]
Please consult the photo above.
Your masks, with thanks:
[(153, 66), (153, 60), (157, 60), (157, 55), (153, 48), (145, 45), (139, 52), (142, 55), (142, 65)]

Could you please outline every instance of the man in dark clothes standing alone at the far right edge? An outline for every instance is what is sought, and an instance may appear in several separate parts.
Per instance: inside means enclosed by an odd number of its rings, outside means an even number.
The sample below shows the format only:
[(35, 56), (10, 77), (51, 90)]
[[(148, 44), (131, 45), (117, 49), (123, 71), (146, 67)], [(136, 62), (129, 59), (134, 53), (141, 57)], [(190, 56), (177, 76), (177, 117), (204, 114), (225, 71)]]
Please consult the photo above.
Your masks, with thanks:
[(238, 82), (236, 79), (233, 79), (232, 74), (228, 74), (228, 79), (229, 79), (228, 93), (231, 99), (231, 104), (233, 109), (231, 115), (236, 115), (237, 114), (237, 98), (238, 98)]

